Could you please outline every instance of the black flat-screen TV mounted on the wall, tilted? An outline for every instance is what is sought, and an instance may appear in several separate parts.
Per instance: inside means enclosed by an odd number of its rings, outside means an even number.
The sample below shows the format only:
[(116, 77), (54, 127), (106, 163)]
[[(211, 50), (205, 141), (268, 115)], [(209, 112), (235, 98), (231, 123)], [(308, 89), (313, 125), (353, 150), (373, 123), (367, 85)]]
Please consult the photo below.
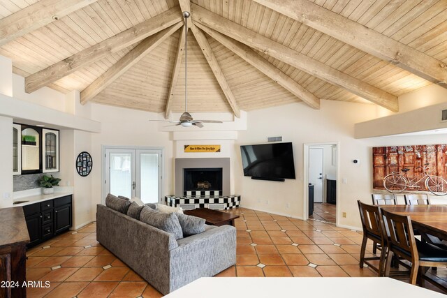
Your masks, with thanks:
[(284, 181), (295, 179), (292, 143), (254, 144), (240, 147), (244, 176)]

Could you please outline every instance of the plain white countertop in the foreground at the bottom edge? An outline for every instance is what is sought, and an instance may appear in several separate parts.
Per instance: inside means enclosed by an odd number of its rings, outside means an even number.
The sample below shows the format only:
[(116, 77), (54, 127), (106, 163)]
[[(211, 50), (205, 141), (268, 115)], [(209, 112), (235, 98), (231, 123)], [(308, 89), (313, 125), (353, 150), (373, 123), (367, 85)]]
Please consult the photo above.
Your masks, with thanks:
[(165, 297), (441, 298), (446, 296), (388, 277), (203, 277)]

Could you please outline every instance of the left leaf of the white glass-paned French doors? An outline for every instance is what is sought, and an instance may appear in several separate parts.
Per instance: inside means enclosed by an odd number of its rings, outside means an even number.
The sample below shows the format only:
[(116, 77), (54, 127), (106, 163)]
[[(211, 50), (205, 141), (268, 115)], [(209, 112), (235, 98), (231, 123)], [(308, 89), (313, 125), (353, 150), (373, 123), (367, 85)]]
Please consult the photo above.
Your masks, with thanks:
[(108, 157), (108, 184), (109, 193), (132, 198), (135, 195), (134, 176), (134, 151), (113, 150), (107, 154)]

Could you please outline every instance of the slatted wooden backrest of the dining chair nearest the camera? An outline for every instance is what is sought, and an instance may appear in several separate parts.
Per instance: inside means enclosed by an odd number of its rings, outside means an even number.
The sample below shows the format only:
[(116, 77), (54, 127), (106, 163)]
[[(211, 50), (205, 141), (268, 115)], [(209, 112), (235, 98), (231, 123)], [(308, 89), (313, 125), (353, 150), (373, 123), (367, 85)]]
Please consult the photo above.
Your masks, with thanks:
[(413, 255), (413, 258), (418, 259), (418, 249), (416, 247), (410, 216), (393, 214), (383, 209), (381, 210), (381, 214), (383, 221), (388, 225), (390, 248), (392, 249), (394, 246), (397, 246), (401, 250)]

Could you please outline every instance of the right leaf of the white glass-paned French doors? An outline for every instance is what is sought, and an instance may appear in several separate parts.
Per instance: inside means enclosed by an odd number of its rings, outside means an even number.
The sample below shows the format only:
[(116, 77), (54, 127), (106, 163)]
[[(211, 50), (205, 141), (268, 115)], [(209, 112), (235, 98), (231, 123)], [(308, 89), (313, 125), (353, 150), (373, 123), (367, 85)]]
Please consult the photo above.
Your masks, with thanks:
[(157, 203), (160, 198), (160, 156), (159, 151), (137, 150), (138, 185), (137, 197), (145, 203)]

